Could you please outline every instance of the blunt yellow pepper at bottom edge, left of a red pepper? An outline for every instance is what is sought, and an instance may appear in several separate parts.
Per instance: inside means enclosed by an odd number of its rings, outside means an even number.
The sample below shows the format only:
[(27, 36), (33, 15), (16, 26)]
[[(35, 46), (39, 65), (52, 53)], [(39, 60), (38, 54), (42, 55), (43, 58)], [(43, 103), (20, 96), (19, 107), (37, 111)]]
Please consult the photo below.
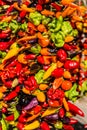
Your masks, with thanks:
[(40, 122), (38, 120), (33, 121), (29, 125), (24, 126), (24, 130), (34, 130), (40, 127)]

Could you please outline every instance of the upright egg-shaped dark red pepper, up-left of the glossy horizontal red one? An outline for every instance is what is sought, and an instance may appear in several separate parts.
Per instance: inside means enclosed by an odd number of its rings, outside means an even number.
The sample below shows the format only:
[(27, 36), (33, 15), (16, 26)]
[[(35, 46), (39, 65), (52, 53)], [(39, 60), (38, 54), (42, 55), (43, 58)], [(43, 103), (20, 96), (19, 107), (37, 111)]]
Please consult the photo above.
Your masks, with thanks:
[(59, 59), (61, 62), (64, 62), (64, 61), (66, 61), (67, 53), (65, 52), (65, 50), (59, 49), (59, 50), (57, 51), (57, 57), (58, 57), (58, 59)]

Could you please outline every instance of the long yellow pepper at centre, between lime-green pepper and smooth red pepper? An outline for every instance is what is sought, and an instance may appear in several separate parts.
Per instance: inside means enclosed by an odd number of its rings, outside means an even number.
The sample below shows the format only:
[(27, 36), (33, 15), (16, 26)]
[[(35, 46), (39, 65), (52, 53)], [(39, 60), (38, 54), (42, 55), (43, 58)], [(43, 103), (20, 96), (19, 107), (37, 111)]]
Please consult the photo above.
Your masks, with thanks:
[(43, 76), (43, 80), (47, 79), (56, 68), (57, 68), (57, 63), (52, 63), (50, 68), (45, 72)]

